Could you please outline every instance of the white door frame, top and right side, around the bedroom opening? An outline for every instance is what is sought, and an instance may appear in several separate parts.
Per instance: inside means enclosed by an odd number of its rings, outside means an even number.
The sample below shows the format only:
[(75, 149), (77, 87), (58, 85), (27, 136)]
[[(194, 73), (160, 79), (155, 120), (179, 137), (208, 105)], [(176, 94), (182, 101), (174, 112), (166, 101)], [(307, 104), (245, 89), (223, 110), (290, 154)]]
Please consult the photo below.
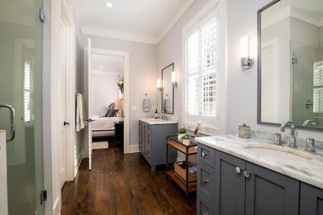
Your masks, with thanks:
[(91, 47), (91, 55), (114, 56), (124, 59), (124, 153), (129, 153), (129, 52)]

